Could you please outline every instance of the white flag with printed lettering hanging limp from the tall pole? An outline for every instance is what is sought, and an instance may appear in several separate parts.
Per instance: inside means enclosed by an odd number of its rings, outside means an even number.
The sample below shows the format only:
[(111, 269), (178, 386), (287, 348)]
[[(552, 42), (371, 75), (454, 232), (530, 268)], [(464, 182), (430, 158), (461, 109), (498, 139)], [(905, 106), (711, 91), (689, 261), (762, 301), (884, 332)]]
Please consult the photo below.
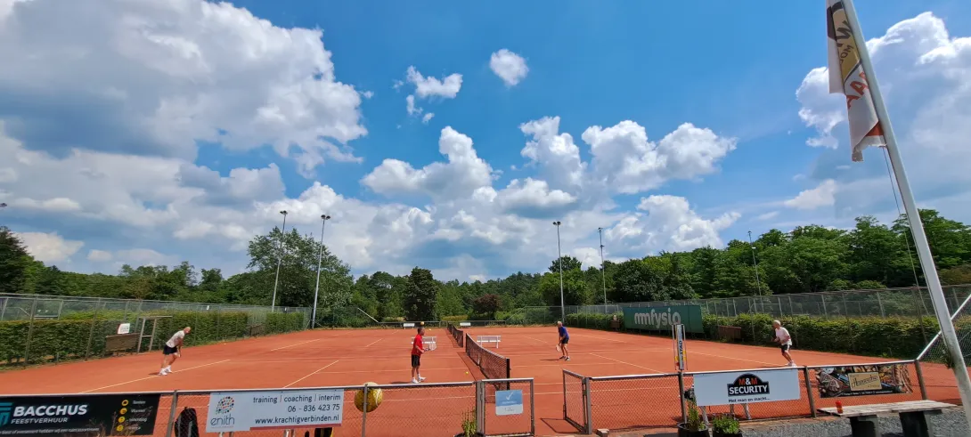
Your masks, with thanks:
[(861, 42), (862, 45), (857, 45), (842, 0), (826, 0), (826, 34), (829, 46), (829, 92), (847, 96), (853, 160), (862, 161), (864, 149), (886, 146), (887, 140), (860, 62), (859, 50), (866, 50), (866, 44)]

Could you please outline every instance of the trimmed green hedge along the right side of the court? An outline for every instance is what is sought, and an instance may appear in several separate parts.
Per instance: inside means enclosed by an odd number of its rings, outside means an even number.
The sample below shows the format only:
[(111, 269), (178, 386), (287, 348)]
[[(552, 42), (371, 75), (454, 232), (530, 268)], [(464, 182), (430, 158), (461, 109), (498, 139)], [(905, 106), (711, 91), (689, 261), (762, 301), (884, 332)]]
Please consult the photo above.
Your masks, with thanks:
[[(609, 329), (614, 315), (571, 314), (569, 326)], [(622, 315), (618, 315), (622, 319)], [(741, 343), (757, 346), (774, 345), (772, 320), (767, 314), (742, 314), (738, 317), (704, 315), (704, 338), (716, 340), (718, 326), (742, 328)], [(808, 316), (780, 319), (792, 336), (797, 349), (831, 353), (853, 353), (867, 356), (911, 359), (921, 353), (938, 331), (937, 320), (917, 318), (815, 318)], [(958, 330), (971, 329), (971, 318), (958, 319)], [(926, 336), (926, 337), (925, 337)]]

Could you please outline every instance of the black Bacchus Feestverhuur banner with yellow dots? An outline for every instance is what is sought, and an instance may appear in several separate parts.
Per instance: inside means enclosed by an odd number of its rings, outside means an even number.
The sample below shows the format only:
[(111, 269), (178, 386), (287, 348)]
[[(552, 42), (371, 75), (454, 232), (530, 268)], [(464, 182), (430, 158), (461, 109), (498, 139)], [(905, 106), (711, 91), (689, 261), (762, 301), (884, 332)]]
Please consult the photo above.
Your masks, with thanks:
[(151, 435), (159, 397), (0, 397), (0, 435)]

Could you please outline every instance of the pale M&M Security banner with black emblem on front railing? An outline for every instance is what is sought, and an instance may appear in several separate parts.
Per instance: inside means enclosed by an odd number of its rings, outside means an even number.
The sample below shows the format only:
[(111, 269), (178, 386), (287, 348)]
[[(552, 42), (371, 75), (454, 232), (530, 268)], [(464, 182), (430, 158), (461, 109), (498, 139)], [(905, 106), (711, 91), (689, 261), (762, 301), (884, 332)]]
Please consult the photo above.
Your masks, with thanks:
[(799, 369), (694, 375), (694, 396), (702, 407), (797, 400), (799, 393)]

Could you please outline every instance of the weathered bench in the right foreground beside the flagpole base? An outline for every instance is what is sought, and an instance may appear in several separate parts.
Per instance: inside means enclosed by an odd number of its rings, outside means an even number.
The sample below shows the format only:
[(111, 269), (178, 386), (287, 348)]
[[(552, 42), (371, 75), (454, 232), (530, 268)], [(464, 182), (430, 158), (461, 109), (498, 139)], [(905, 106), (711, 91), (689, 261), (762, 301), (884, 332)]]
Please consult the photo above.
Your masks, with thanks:
[(858, 405), (843, 407), (843, 413), (837, 413), (836, 407), (820, 408), (820, 412), (840, 418), (850, 418), (850, 427), (854, 437), (879, 437), (879, 414), (900, 415), (900, 425), (905, 437), (930, 437), (934, 435), (927, 422), (927, 416), (939, 415), (941, 410), (954, 407), (952, 404), (932, 400), (895, 402), (890, 404)]

